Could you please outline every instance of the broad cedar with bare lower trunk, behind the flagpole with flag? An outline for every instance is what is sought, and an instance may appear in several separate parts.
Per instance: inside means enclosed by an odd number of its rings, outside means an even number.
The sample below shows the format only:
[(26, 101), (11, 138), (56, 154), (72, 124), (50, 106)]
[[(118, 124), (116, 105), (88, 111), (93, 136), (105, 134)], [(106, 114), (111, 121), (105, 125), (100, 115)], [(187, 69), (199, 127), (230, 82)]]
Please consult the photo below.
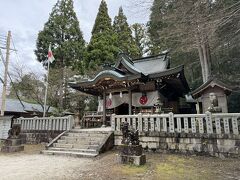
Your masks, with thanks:
[[(51, 66), (59, 69), (60, 88), (58, 91), (59, 108), (66, 107), (67, 99), (67, 67), (82, 72), (82, 62), (85, 53), (85, 41), (79, 28), (76, 13), (73, 9), (73, 0), (58, 0), (37, 38), (35, 54), (38, 61), (47, 59), (49, 44), (55, 61)], [(50, 72), (51, 76), (51, 72)], [(49, 87), (51, 88), (51, 87)]]

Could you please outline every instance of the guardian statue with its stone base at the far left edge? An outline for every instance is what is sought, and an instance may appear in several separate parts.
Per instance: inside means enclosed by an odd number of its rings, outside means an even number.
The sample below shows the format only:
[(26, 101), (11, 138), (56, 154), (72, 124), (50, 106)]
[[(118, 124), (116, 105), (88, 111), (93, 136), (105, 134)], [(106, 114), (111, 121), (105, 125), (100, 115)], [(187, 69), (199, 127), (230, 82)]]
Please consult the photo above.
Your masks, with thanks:
[(8, 138), (2, 146), (2, 152), (19, 152), (24, 150), (22, 140), (19, 138), (21, 132), (21, 124), (13, 124), (12, 128), (8, 131)]

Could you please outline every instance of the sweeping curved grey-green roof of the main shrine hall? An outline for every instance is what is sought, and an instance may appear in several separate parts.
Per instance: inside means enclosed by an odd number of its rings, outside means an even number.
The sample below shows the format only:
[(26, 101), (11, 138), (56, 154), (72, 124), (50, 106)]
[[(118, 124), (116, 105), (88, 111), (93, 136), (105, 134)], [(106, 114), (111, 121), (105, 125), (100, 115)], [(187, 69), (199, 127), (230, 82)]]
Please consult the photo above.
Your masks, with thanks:
[[(156, 56), (132, 60), (125, 54), (120, 54), (114, 66), (98, 73), (95, 78), (84, 81), (70, 82), (69, 85), (79, 91), (92, 95), (101, 95), (105, 87), (125, 88), (134, 81), (134, 85), (142, 84), (148, 79), (162, 79), (178, 95), (189, 92), (189, 86), (184, 76), (183, 66), (169, 69), (168, 51)], [(177, 86), (177, 87), (176, 87)], [(167, 93), (167, 90), (166, 90)]]

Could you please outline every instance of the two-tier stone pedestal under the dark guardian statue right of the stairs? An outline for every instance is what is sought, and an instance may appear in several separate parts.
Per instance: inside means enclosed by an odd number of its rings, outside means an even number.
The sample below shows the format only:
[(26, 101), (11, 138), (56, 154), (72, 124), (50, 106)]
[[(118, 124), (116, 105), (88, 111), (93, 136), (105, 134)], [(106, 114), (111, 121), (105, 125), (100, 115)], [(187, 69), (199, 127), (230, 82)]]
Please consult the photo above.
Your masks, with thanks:
[(121, 145), (117, 161), (121, 164), (140, 166), (146, 163), (146, 155), (143, 154), (141, 145)]

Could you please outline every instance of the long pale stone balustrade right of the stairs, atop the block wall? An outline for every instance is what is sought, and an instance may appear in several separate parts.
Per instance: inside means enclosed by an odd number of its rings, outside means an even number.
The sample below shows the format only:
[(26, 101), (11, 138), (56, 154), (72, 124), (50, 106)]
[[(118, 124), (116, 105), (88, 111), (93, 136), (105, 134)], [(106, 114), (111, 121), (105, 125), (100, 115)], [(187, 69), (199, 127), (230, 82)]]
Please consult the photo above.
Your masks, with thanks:
[(120, 131), (121, 122), (127, 121), (139, 132), (233, 134), (239, 135), (240, 113), (212, 114), (137, 114), (111, 116), (112, 129)]

